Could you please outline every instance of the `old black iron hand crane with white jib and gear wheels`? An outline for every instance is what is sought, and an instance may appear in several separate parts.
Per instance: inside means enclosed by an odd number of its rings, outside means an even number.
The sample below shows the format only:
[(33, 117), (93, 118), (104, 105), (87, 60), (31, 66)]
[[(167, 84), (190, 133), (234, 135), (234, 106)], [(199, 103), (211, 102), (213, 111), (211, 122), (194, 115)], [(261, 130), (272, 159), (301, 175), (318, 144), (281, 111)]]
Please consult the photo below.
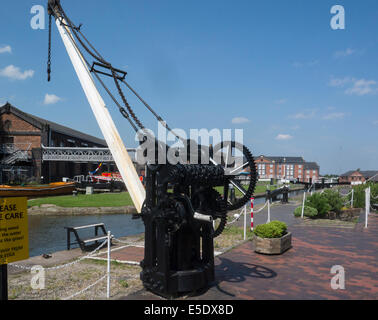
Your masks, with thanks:
[[(49, 58), (51, 75), (51, 27), (55, 19), (59, 34), (74, 66), (81, 86), (109, 146), (127, 190), (145, 225), (144, 259), (140, 278), (146, 289), (162, 296), (174, 297), (207, 288), (214, 280), (214, 237), (227, 223), (227, 212), (244, 206), (256, 185), (256, 166), (251, 152), (235, 141), (214, 146), (197, 145), (177, 135), (143, 100), (126, 80), (127, 73), (105, 60), (62, 8), (60, 0), (48, 1)], [(105, 85), (104, 77), (113, 79), (117, 96)], [(146, 163), (146, 187), (123, 145), (110, 113), (97, 90), (103, 87), (132, 128), (141, 145), (153, 139), (153, 153)], [(169, 146), (144, 127), (128, 103), (124, 89), (135, 95), (168, 131), (179, 139), (186, 153), (176, 164), (159, 164), (158, 152), (167, 153)], [(192, 156), (198, 162), (193, 163)], [(203, 161), (208, 159), (208, 161)], [(239, 159), (239, 161), (237, 161)], [(248, 172), (248, 179), (245, 173)], [(243, 177), (243, 180), (240, 179)], [(236, 198), (229, 199), (229, 186)]]

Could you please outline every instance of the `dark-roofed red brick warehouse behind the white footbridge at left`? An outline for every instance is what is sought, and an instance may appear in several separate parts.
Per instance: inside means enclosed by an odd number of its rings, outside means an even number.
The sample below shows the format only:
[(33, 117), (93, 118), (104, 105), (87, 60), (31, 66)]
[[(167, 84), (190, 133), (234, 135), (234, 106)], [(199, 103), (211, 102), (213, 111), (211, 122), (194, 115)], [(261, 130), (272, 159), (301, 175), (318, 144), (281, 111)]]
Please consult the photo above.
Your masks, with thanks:
[[(62, 177), (87, 175), (96, 163), (43, 162), (45, 147), (106, 148), (105, 140), (25, 113), (9, 103), (0, 107), (0, 183), (12, 175), (29, 180), (61, 181)], [(112, 165), (114, 170), (114, 165)]]

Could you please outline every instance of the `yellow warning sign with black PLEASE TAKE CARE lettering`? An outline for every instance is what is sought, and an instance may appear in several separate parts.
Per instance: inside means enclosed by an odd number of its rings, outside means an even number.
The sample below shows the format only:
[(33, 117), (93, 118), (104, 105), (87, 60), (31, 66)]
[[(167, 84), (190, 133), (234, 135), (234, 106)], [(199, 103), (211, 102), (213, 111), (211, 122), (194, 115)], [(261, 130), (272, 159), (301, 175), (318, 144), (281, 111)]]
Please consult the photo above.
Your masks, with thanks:
[(0, 265), (29, 258), (27, 198), (0, 199)]

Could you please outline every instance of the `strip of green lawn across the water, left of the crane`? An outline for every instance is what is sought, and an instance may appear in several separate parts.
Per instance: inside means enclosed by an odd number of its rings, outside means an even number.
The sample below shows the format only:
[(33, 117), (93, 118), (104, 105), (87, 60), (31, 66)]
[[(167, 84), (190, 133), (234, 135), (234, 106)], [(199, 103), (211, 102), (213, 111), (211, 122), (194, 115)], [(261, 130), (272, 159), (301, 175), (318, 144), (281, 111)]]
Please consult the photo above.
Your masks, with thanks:
[(42, 204), (53, 204), (63, 208), (133, 206), (133, 202), (128, 192), (91, 195), (79, 194), (75, 197), (69, 195), (31, 199), (28, 201), (28, 207), (41, 206)]

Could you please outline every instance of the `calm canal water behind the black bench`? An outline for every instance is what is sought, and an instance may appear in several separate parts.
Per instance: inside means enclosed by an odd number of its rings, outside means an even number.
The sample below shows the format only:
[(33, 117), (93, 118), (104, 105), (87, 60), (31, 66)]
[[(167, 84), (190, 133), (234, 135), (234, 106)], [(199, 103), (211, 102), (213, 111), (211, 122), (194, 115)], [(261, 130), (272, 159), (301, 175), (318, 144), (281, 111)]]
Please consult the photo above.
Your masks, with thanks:
[[(105, 229), (115, 237), (136, 235), (144, 232), (142, 219), (132, 220), (131, 214), (98, 216), (30, 216), (29, 250), (30, 257), (67, 250), (67, 232), (64, 227), (77, 227), (94, 223), (104, 223)], [(101, 231), (99, 230), (99, 234)], [(88, 238), (94, 235), (94, 228), (80, 230), (79, 235)], [(76, 241), (71, 233), (71, 242)], [(77, 245), (72, 246), (78, 247)]]

